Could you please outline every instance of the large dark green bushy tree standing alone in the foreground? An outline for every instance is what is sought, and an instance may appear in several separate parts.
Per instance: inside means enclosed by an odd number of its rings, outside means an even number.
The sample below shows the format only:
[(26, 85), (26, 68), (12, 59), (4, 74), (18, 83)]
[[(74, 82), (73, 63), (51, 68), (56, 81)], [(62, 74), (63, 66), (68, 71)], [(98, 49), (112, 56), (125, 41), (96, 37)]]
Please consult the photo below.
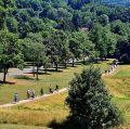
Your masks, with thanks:
[(76, 129), (101, 129), (123, 122), (122, 113), (112, 101), (101, 79), (100, 68), (90, 66), (81, 74), (75, 74), (66, 104), (70, 108), (67, 119)]

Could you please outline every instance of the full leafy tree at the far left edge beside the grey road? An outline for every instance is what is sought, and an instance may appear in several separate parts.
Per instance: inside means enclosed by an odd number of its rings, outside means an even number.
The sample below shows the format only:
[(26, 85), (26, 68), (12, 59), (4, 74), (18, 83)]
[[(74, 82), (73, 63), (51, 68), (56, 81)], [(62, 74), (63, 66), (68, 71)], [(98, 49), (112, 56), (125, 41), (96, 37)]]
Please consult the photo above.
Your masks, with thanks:
[(21, 41), (18, 41), (18, 36), (8, 30), (0, 31), (0, 66), (4, 69), (3, 81), (5, 81), (5, 75), (10, 67), (18, 67), (23, 69), (24, 54), (22, 53), (23, 47)]

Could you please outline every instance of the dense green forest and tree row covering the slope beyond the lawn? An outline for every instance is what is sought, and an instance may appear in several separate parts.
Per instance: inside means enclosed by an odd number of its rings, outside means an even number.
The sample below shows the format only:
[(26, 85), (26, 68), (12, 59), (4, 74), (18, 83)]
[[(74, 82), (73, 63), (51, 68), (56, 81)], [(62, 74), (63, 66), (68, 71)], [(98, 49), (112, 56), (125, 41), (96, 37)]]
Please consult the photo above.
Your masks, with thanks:
[(55, 64), (56, 69), (87, 55), (129, 63), (129, 47), (130, 8), (94, 0), (0, 0), (0, 66), (5, 74), (14, 65), (23, 68), (24, 61), (37, 67)]

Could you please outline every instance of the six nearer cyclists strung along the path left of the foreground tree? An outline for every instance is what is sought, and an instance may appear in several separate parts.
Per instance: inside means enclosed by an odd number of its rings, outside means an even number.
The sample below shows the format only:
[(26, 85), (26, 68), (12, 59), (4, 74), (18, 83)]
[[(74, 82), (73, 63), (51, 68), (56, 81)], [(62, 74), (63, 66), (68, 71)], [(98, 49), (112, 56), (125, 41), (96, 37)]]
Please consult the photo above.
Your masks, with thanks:
[[(58, 86), (57, 85), (55, 86), (55, 91), (58, 92)], [(49, 93), (53, 93), (51, 85), (49, 87)], [(40, 89), (40, 94), (43, 95), (43, 88), (42, 87)], [(36, 96), (35, 89), (32, 90), (31, 94), (30, 94), (30, 90), (28, 89), (27, 90), (27, 99), (30, 99), (30, 98), (35, 99), (35, 96)], [(15, 95), (14, 95), (14, 102), (18, 102), (18, 95), (17, 95), (17, 93), (15, 93)]]

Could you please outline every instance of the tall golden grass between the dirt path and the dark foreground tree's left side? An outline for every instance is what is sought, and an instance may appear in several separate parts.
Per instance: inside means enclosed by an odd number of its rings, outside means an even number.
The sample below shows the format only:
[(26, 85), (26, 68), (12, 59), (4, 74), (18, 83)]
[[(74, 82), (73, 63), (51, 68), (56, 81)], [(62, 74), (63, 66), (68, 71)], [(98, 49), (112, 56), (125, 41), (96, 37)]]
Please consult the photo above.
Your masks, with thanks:
[(67, 91), (26, 104), (0, 109), (0, 122), (32, 126), (64, 126), (68, 108), (64, 104)]

